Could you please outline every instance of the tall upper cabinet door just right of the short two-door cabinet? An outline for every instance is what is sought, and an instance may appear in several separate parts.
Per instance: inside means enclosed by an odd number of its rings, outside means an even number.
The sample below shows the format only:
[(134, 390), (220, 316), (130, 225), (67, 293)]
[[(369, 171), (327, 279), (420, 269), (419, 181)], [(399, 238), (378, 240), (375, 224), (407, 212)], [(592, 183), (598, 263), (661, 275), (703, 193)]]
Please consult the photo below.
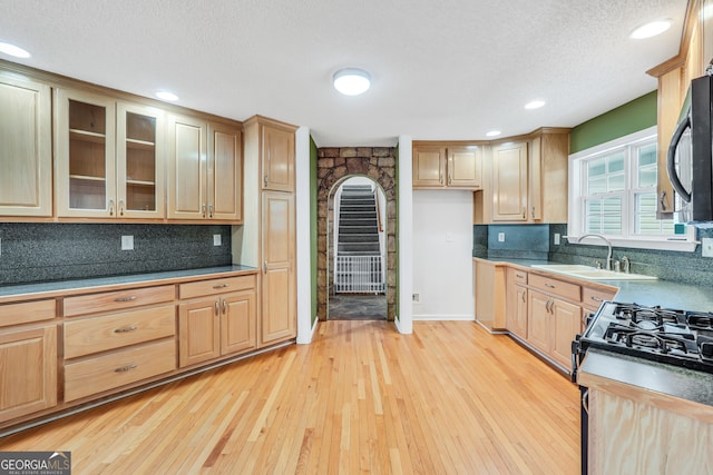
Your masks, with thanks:
[(492, 220), (527, 220), (527, 142), (497, 147), (492, 157)]

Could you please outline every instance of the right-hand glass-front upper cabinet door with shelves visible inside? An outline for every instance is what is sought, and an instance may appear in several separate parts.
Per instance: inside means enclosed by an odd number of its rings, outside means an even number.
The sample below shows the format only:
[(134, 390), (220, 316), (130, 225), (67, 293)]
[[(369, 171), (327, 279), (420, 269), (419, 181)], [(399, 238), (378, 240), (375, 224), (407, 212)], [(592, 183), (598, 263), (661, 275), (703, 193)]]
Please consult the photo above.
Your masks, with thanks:
[(165, 218), (164, 113), (117, 105), (117, 205), (119, 217)]

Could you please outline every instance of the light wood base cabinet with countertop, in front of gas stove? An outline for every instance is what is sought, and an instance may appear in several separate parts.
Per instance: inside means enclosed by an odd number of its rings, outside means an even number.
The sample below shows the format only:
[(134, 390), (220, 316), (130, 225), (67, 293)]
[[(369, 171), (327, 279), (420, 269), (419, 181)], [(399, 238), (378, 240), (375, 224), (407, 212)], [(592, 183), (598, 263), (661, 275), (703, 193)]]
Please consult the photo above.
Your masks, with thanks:
[(588, 473), (713, 471), (713, 375), (589, 349)]

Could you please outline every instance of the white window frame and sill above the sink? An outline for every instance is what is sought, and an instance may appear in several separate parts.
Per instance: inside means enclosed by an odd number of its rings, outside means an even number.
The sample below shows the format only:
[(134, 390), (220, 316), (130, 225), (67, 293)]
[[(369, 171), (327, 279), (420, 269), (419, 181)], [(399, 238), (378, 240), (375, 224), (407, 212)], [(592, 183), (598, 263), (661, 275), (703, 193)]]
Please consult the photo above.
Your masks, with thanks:
[[(572, 243), (587, 244), (604, 246), (605, 244), (596, 238), (584, 238), (579, 243), (579, 236), (585, 234), (585, 200), (583, 197), (583, 190), (585, 189), (585, 174), (583, 167), (586, 165), (587, 159), (607, 155), (616, 149), (629, 146), (645, 145), (651, 140), (656, 140), (656, 126), (649, 127), (638, 132), (631, 133), (625, 137), (600, 144), (598, 146), (588, 148), (586, 150), (578, 151), (569, 156), (568, 162), (568, 178), (569, 178), (569, 211), (567, 222), (567, 234)], [(631, 160), (627, 160), (625, 165), (626, 169), (626, 184), (627, 184), (627, 197), (624, 200), (624, 209), (634, 211), (634, 204), (628, 199), (629, 189), (633, 182), (633, 170), (629, 166)], [(636, 249), (660, 249), (660, 250), (675, 250), (693, 253), (699, 244), (696, 241), (696, 232), (693, 226), (686, 226), (686, 232), (675, 236), (642, 236), (634, 235), (634, 219), (633, 216), (624, 216), (622, 220), (622, 228), (624, 232), (622, 235), (606, 235), (606, 238), (613, 246), (628, 247)]]

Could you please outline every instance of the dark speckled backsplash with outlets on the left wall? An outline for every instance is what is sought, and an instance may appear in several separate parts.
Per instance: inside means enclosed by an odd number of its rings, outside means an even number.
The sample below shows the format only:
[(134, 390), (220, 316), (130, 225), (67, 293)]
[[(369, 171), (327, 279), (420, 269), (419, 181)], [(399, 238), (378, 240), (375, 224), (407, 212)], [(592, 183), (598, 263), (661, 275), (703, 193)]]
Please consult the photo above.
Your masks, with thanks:
[[(214, 246), (214, 235), (221, 246)], [(121, 250), (121, 236), (133, 236), (134, 250)], [(231, 263), (231, 226), (0, 224), (0, 285)]]

